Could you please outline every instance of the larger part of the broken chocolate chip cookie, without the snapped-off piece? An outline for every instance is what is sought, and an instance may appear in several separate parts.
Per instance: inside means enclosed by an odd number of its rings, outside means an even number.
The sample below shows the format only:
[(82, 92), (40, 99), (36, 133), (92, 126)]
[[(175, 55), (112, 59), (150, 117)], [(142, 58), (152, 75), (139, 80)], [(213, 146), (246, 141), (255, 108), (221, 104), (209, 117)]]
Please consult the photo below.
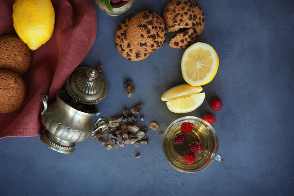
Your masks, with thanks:
[(200, 35), (205, 25), (203, 10), (194, 0), (172, 0), (164, 9), (163, 18), (167, 23), (168, 32), (195, 28)]

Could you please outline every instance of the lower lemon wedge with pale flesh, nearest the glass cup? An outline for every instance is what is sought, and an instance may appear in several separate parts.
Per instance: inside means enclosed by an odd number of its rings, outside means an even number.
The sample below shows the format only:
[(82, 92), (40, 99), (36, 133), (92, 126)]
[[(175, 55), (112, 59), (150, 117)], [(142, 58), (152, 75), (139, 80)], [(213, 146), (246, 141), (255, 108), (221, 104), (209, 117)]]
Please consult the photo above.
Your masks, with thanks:
[(168, 101), (167, 106), (171, 112), (187, 113), (196, 110), (204, 101), (205, 93), (199, 93), (186, 98)]

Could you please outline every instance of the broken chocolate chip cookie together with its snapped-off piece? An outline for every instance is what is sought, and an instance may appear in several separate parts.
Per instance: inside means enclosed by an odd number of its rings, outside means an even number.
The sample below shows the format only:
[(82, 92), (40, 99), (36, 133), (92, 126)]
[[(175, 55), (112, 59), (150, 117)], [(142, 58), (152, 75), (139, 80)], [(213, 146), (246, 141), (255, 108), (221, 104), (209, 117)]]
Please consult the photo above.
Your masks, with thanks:
[(164, 9), (163, 18), (169, 33), (185, 29), (172, 38), (169, 43), (172, 48), (186, 48), (193, 44), (205, 25), (203, 10), (194, 0), (172, 0)]

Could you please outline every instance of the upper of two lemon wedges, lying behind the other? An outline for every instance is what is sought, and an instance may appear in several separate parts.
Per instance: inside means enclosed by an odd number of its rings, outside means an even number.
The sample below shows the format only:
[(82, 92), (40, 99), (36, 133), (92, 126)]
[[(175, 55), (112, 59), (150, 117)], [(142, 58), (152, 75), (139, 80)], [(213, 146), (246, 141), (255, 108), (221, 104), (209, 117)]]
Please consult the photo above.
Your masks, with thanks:
[(201, 86), (191, 86), (189, 84), (181, 84), (164, 92), (161, 96), (161, 100), (172, 101), (178, 98), (184, 98), (184, 97), (198, 94), (202, 90), (203, 89)]

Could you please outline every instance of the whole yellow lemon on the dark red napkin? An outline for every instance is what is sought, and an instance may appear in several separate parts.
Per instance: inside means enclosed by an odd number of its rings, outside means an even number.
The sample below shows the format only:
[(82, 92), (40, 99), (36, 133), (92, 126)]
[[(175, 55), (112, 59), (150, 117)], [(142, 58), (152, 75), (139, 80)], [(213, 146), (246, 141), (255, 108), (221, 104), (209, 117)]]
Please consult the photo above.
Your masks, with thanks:
[(31, 50), (38, 49), (52, 36), (55, 12), (51, 0), (16, 0), (13, 27)]

